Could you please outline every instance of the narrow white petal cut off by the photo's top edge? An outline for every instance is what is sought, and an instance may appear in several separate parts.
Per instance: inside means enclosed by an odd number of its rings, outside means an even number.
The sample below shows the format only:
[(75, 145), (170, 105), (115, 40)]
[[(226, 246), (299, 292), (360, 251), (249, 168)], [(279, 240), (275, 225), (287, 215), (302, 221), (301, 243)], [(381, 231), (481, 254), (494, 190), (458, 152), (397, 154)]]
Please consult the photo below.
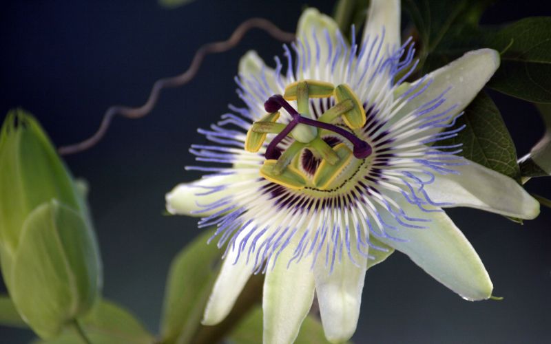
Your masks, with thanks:
[(383, 50), (393, 51), (400, 45), (400, 1), (371, 0), (362, 41), (382, 35)]

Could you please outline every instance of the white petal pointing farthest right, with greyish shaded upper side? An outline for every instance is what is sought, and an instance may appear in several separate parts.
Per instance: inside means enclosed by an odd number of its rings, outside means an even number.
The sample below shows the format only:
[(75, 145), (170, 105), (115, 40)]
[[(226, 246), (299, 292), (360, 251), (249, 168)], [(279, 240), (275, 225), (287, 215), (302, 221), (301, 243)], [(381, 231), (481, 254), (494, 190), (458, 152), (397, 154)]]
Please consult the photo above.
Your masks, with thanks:
[(539, 214), (539, 202), (506, 175), (476, 162), (454, 169), (461, 174), (437, 175), (432, 184), (424, 187), (431, 200), (521, 219), (533, 219)]

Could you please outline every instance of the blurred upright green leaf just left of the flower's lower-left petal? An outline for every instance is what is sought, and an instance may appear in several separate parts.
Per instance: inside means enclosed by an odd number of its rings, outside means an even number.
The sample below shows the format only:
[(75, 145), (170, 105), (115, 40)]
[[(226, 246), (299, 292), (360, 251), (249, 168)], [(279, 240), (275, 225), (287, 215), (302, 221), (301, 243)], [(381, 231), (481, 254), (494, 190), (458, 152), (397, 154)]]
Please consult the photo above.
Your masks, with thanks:
[(189, 343), (220, 270), (222, 250), (207, 245), (207, 230), (181, 250), (171, 263), (160, 333), (163, 343)]

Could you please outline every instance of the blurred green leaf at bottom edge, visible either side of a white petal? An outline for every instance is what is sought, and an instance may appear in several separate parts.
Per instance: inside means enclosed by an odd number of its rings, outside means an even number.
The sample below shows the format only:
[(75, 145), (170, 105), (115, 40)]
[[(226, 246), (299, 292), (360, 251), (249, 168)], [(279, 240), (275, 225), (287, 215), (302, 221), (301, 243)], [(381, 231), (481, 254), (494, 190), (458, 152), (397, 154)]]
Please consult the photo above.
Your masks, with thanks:
[[(262, 343), (262, 308), (256, 307), (242, 319), (236, 328), (229, 334), (229, 343), (257, 344)], [(322, 323), (313, 316), (306, 316), (295, 344), (329, 343), (325, 338)]]

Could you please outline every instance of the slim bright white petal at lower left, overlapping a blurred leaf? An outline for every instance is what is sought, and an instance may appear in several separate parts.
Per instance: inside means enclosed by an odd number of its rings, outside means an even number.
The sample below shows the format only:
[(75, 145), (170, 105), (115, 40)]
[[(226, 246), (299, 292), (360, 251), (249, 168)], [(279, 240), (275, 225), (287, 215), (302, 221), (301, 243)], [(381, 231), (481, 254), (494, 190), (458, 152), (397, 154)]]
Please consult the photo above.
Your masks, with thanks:
[[(238, 243), (240, 239), (245, 237), (246, 233), (247, 230), (244, 230), (242, 234), (238, 235), (235, 250), (230, 248), (222, 263), (222, 269), (214, 283), (214, 288), (201, 321), (203, 325), (216, 325), (224, 320), (236, 303), (241, 290), (245, 287), (245, 283), (251, 277), (253, 272), (252, 261), (249, 261), (249, 264), (247, 264), (246, 257), (241, 255), (240, 259), (236, 262)], [(246, 250), (245, 252), (247, 252)]]

